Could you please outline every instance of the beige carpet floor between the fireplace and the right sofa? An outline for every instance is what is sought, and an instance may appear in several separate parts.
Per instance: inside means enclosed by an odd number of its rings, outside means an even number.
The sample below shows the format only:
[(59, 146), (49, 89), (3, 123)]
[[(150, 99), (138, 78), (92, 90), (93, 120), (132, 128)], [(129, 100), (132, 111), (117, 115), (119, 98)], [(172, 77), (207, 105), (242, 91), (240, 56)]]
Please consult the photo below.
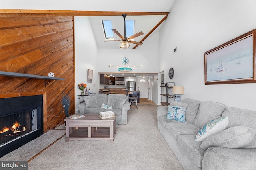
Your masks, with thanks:
[(132, 107), (127, 125), (116, 125), (113, 143), (65, 142), (65, 137), (60, 138), (65, 133), (62, 125), (0, 160), (30, 160), (29, 170), (182, 170), (157, 129), (157, 107), (151, 103), (138, 104), (138, 109)]

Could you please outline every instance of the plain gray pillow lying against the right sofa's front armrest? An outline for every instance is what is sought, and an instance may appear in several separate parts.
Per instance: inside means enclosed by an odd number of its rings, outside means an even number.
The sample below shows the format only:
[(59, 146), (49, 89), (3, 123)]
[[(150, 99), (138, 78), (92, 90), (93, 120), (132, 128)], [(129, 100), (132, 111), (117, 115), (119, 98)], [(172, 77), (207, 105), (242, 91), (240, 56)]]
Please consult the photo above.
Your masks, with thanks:
[(202, 142), (200, 148), (209, 147), (240, 148), (250, 143), (256, 130), (245, 126), (233, 126), (219, 133), (215, 133)]

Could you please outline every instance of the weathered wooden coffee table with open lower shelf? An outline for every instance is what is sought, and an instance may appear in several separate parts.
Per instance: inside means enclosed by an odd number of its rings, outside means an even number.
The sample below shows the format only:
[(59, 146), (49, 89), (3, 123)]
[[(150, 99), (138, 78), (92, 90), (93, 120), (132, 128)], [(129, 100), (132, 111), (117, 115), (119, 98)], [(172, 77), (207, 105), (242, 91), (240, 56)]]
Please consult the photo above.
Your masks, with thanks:
[(85, 117), (66, 121), (66, 138), (70, 140), (100, 140), (114, 141), (116, 133), (116, 118), (101, 119), (100, 114), (83, 114)]

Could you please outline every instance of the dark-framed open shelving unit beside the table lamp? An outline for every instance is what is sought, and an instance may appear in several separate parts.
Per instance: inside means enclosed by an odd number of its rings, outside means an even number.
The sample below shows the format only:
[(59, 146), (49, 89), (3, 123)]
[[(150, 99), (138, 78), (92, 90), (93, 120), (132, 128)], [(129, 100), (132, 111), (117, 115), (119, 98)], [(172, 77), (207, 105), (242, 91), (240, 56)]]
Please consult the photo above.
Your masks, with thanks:
[[(170, 104), (168, 101), (174, 99), (174, 95), (169, 94), (173, 86), (175, 86), (174, 82), (161, 83), (161, 106), (168, 106)], [(164, 99), (162, 99), (162, 96), (164, 96)]]

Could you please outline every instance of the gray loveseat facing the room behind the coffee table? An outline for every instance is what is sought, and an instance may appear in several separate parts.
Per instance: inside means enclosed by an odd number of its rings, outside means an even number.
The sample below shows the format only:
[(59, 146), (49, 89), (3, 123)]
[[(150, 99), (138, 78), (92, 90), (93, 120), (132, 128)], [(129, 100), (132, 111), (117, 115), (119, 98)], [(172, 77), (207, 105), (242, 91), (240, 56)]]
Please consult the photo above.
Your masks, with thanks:
[[(102, 106), (103, 105), (103, 106)], [(116, 117), (116, 124), (127, 124), (127, 111), (130, 110), (128, 97), (124, 94), (90, 94), (84, 96), (84, 102), (78, 104), (76, 109), (80, 114), (100, 113), (113, 111)]]

